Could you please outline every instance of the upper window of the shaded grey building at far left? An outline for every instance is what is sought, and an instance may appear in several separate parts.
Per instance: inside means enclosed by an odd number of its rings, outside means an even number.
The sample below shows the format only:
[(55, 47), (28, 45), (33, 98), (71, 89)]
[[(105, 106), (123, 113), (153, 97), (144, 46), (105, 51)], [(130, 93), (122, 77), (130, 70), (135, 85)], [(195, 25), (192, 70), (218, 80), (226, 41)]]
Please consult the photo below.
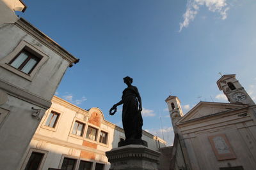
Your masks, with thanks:
[(36, 57), (27, 50), (22, 49), (19, 55), (17, 55), (17, 57), (11, 60), (9, 64), (26, 74), (30, 74), (39, 61), (40, 58)]

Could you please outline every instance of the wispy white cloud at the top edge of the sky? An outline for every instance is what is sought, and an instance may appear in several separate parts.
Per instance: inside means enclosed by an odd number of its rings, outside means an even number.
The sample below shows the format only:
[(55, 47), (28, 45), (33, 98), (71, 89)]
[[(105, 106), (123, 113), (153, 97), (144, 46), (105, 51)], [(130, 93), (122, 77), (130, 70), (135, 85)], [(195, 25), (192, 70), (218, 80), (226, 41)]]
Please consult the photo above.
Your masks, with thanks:
[(229, 10), (227, 0), (188, 0), (186, 12), (183, 14), (184, 20), (180, 22), (179, 31), (188, 27), (189, 23), (195, 19), (200, 6), (206, 6), (209, 11), (219, 13), (222, 20), (227, 18), (227, 11)]

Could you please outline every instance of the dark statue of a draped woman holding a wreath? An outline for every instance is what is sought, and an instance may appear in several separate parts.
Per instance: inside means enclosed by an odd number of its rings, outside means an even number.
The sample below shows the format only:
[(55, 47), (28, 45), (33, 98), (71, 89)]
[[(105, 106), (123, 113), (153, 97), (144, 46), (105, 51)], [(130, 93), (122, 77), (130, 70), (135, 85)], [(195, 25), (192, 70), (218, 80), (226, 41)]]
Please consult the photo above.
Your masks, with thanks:
[[(141, 117), (141, 97), (137, 87), (132, 85), (132, 78), (127, 76), (124, 78), (127, 88), (123, 91), (122, 100), (113, 105), (109, 114), (114, 115), (116, 107), (123, 104), (122, 122), (127, 139), (141, 139), (143, 120)], [(112, 111), (114, 112), (112, 113)]]

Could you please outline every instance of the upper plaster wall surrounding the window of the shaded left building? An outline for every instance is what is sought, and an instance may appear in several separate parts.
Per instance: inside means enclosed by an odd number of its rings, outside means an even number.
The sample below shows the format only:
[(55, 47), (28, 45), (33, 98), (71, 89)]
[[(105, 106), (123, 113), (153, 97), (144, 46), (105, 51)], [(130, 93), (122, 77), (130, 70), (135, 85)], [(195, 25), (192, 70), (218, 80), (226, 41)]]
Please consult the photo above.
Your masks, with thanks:
[(3, 67), (0, 67), (0, 78), (18, 86), (20, 89), (51, 101), (69, 65), (67, 60), (63, 59), (63, 57), (52, 50), (49, 50), (47, 46), (43, 45), (33, 36), (14, 24), (0, 25), (0, 60), (10, 54), (15, 47), (19, 45), (20, 41), (28, 42), (42, 53), (45, 53), (49, 58), (38, 69), (32, 81), (26, 80), (17, 74), (13, 74)]

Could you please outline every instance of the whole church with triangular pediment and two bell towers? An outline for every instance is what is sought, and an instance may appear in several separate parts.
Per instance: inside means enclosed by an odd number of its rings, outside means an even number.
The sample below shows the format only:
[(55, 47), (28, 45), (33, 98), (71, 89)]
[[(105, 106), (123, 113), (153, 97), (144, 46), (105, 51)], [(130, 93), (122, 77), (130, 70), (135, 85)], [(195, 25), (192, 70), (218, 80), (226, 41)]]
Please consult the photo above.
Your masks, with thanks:
[(255, 169), (255, 103), (235, 74), (222, 76), (217, 85), (230, 103), (200, 102), (183, 116), (179, 99), (166, 99), (179, 139), (169, 169)]

